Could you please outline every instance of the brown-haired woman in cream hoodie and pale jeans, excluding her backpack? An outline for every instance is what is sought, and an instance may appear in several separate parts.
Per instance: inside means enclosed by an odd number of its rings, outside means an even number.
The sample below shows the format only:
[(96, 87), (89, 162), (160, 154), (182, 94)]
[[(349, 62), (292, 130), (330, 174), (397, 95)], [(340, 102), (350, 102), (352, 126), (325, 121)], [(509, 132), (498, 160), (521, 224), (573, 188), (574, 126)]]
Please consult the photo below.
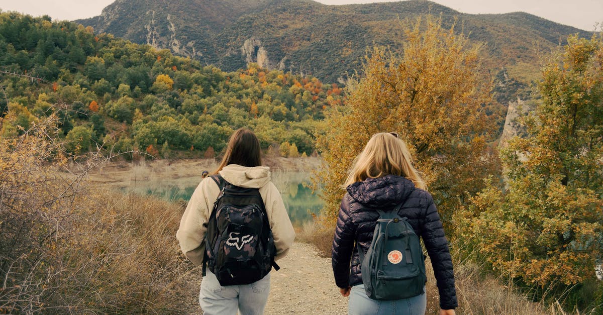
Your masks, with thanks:
[[(213, 175), (219, 174), (229, 185), (257, 188), (264, 202), (272, 231), (275, 260), (283, 258), (295, 238), (289, 215), (276, 186), (270, 181), (270, 168), (262, 167), (260, 144), (249, 129), (239, 129), (230, 136), (226, 153)], [(221, 188), (207, 176), (195, 189), (176, 234), (180, 248), (193, 263), (201, 265), (206, 256), (205, 238), (212, 208)], [(231, 233), (234, 234), (234, 233)], [(242, 244), (241, 244), (242, 245)], [(270, 291), (270, 273), (251, 284), (226, 285), (207, 270), (201, 282), (199, 300), (204, 314), (262, 314)]]

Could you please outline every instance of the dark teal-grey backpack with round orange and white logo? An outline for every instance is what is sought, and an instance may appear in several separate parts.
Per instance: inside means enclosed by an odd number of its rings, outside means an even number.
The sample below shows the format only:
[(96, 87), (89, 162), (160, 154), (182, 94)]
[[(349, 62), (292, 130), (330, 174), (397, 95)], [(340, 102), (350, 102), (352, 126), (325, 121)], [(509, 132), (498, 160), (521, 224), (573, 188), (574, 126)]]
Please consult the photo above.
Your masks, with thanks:
[(397, 300), (425, 293), (425, 256), (411, 224), (398, 214), (401, 207), (379, 211), (366, 255), (358, 245), (362, 282), (371, 299)]

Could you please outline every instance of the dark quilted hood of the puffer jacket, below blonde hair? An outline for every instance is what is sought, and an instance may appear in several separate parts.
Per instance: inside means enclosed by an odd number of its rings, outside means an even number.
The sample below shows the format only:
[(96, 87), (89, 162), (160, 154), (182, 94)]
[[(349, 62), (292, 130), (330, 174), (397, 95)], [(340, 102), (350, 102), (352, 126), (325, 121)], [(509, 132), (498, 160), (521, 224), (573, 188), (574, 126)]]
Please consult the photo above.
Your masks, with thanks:
[(347, 186), (354, 200), (367, 208), (393, 208), (408, 199), (414, 183), (406, 177), (386, 175)]

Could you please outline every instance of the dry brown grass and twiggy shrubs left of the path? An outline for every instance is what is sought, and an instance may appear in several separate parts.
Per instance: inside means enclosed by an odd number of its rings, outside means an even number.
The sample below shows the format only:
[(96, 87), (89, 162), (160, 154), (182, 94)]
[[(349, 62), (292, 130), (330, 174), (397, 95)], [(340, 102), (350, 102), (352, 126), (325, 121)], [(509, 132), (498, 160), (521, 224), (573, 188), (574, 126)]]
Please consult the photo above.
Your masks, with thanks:
[(190, 313), (183, 205), (69, 173), (46, 130), (0, 138), (0, 313)]

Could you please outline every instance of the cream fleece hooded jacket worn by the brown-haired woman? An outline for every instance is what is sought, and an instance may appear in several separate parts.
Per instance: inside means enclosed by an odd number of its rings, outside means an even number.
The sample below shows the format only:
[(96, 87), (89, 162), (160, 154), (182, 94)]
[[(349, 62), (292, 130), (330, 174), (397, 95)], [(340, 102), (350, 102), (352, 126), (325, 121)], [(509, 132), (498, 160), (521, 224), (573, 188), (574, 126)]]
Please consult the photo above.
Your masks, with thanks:
[[(295, 239), (295, 231), (291, 220), (289, 220), (283, 199), (280, 197), (274, 183), (270, 181), (270, 168), (243, 167), (230, 164), (219, 171), (219, 174), (224, 180), (233, 185), (244, 188), (259, 188), (274, 236), (275, 259), (283, 258)], [(176, 232), (180, 249), (196, 265), (203, 263), (207, 220), (219, 192), (218, 184), (213, 179), (206, 177), (201, 180), (201, 183), (192, 194), (188, 206), (186, 206), (185, 213), (180, 220), (180, 228)]]

